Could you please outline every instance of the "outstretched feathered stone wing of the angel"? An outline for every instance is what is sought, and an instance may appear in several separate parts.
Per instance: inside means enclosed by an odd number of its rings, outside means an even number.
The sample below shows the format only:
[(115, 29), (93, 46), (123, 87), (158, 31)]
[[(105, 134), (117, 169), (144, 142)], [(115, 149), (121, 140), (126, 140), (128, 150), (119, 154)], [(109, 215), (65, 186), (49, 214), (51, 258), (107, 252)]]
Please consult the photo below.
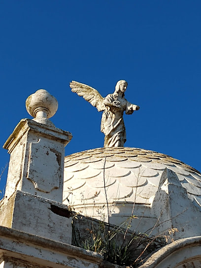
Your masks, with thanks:
[(70, 88), (72, 92), (77, 93), (78, 96), (83, 97), (95, 106), (99, 112), (105, 109), (105, 105), (103, 104), (104, 98), (102, 98), (96, 89), (76, 81), (70, 83)]

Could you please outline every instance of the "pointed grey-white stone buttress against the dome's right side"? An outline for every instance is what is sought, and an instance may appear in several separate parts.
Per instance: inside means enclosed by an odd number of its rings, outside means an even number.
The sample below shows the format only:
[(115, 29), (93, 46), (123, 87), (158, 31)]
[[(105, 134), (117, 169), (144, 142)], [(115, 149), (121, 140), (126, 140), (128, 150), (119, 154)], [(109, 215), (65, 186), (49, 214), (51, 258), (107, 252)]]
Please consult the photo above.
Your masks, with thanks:
[(167, 234), (173, 240), (201, 234), (200, 209), (188, 198), (176, 173), (168, 168), (161, 176), (151, 212), (157, 218), (159, 234)]

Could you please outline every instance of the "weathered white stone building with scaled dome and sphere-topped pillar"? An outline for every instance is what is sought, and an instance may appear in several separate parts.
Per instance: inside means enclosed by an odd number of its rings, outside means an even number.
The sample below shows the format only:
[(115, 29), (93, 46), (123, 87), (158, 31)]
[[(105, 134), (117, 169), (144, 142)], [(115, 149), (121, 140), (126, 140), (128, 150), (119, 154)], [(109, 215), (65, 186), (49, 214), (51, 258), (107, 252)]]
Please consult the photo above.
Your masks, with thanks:
[(22, 119), (4, 144), (10, 162), (0, 203), (0, 268), (120, 267), (75, 246), (74, 227), (83, 241), (92, 231), (88, 226), (104, 221), (107, 231), (118, 230), (128, 220), (129, 228), (121, 230), (130, 237), (166, 238), (146, 255), (138, 248), (135, 267), (201, 267), (198, 170), (139, 148), (65, 157), (72, 135), (49, 120), (57, 100), (39, 90), (26, 106), (34, 119)]

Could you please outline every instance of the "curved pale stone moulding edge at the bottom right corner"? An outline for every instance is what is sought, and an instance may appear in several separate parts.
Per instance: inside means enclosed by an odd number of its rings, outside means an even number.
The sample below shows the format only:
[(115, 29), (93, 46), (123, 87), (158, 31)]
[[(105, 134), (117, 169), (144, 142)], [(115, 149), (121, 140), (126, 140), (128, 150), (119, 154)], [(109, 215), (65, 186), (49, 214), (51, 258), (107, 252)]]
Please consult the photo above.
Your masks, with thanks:
[(171, 244), (159, 249), (155, 252), (143, 265), (138, 268), (155, 268), (159, 265), (165, 258), (167, 258), (170, 254), (174, 253), (179, 249), (183, 249), (185, 247), (201, 244), (201, 236), (194, 236), (176, 240)]

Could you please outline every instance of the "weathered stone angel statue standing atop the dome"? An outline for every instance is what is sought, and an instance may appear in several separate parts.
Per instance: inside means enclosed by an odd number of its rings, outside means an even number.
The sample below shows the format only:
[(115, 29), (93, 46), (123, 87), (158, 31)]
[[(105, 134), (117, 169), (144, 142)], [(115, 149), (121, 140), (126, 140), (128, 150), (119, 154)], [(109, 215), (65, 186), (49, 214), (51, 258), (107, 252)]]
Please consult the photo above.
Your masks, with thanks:
[(105, 134), (104, 147), (124, 147), (126, 129), (123, 113), (126, 111), (126, 114), (132, 114), (134, 110), (139, 110), (139, 106), (124, 98), (127, 86), (125, 80), (120, 80), (116, 84), (114, 93), (102, 98), (100, 93), (90, 86), (76, 81), (70, 83), (72, 92), (89, 101), (99, 112), (103, 111), (100, 131)]

